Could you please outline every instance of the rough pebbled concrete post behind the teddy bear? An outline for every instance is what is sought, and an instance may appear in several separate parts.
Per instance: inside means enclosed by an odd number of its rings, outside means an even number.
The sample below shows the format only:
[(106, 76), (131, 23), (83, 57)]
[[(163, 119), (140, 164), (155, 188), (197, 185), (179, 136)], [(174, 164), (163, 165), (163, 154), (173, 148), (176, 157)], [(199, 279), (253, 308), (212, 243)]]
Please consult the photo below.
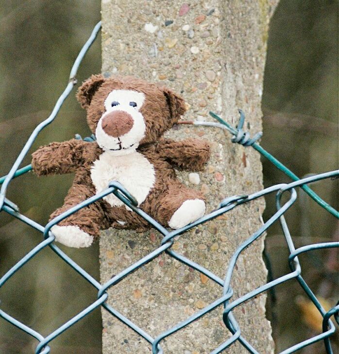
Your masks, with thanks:
[[(237, 123), (246, 113), (252, 135), (261, 130), (261, 96), (268, 21), (278, 0), (102, 0), (102, 73), (135, 75), (160, 82), (182, 94), (185, 119), (212, 120), (208, 111)], [(179, 125), (169, 137), (202, 137), (212, 142), (212, 157), (200, 181), (179, 178), (201, 189), (208, 212), (225, 197), (263, 187), (260, 157), (230, 142), (217, 128)], [(243, 205), (180, 236), (173, 249), (224, 277), (231, 255), (261, 224), (264, 200)], [(114, 229), (100, 240), (101, 281), (106, 282), (160, 244), (154, 231)], [(263, 239), (244, 252), (234, 271), (233, 299), (266, 282)], [(108, 290), (107, 302), (156, 337), (212, 303), (222, 288), (197, 271), (162, 254)], [(271, 326), (265, 318), (266, 295), (235, 311), (242, 335), (260, 353), (273, 353)], [(165, 354), (210, 353), (230, 337), (222, 306), (162, 341)], [(152, 353), (151, 345), (102, 310), (103, 354)], [(238, 343), (225, 353), (247, 353)]]

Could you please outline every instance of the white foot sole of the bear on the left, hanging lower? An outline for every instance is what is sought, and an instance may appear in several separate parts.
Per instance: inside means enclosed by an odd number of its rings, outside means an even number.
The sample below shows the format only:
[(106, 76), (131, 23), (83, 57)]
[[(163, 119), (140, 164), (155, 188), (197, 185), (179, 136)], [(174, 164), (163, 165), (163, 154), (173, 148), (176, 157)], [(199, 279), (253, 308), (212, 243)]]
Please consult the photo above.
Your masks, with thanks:
[(88, 247), (93, 242), (93, 236), (88, 235), (85, 231), (81, 230), (79, 226), (54, 225), (51, 228), (51, 232), (54, 234), (56, 241), (68, 247)]

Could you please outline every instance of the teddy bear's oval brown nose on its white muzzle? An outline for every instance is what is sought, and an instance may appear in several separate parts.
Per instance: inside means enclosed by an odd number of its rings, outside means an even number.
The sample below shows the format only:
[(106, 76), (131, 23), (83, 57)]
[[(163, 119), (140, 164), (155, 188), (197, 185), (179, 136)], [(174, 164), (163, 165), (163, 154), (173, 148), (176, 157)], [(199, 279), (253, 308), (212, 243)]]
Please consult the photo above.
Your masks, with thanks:
[(124, 111), (114, 111), (102, 119), (103, 131), (111, 136), (118, 137), (128, 133), (133, 127), (134, 120)]

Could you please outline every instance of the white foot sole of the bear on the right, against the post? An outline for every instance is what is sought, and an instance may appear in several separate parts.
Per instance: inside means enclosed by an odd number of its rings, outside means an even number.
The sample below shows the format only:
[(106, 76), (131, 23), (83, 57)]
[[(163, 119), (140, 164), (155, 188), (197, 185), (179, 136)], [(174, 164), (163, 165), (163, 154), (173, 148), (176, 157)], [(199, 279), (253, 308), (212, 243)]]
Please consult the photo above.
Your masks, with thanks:
[(205, 214), (205, 202), (201, 199), (188, 199), (181, 204), (169, 221), (172, 229), (180, 229), (200, 219)]

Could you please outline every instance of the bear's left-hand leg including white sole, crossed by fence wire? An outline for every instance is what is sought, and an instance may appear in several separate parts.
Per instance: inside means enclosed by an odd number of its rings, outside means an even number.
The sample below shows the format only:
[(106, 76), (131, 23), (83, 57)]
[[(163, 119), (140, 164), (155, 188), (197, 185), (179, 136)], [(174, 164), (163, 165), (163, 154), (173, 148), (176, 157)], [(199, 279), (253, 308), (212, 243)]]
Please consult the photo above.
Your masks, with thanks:
[[(94, 194), (94, 188), (73, 183), (65, 198), (64, 205), (55, 210), (50, 220)], [(68, 247), (88, 247), (92, 244), (93, 239), (99, 236), (103, 222), (102, 207), (99, 202), (94, 202), (54, 225), (51, 232), (55, 235), (56, 241)]]

